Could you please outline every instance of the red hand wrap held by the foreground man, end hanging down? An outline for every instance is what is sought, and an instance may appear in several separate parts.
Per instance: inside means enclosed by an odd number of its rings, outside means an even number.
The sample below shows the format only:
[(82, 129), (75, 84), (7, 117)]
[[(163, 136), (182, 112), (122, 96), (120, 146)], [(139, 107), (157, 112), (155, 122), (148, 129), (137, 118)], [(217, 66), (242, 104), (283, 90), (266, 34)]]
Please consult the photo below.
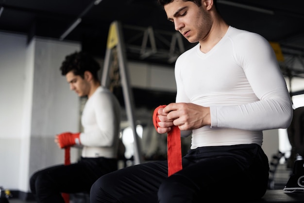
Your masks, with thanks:
[[(165, 108), (166, 105), (161, 105), (157, 107), (153, 112), (153, 125), (157, 131), (158, 118), (157, 111), (160, 108)], [(171, 130), (168, 132), (167, 136), (167, 145), (168, 145), (168, 177), (177, 171), (180, 171), (182, 167), (182, 148), (181, 148), (181, 131), (177, 126), (171, 127)]]

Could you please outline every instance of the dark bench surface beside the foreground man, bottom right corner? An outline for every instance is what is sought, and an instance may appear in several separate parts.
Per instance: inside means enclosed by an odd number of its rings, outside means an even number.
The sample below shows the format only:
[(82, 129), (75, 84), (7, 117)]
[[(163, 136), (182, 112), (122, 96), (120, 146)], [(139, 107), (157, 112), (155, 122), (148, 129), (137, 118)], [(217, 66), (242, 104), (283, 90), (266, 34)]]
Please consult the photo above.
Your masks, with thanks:
[(284, 193), (283, 189), (267, 190), (260, 200), (247, 203), (304, 203), (304, 193)]

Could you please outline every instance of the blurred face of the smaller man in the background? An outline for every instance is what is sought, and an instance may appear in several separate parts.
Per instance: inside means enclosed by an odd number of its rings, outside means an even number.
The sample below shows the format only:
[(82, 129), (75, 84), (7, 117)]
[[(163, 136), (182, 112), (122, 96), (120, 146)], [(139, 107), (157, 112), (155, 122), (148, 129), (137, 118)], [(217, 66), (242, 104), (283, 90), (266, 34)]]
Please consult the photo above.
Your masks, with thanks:
[(86, 96), (89, 91), (89, 83), (80, 75), (75, 75), (73, 71), (66, 74), (70, 90), (75, 91), (78, 96)]

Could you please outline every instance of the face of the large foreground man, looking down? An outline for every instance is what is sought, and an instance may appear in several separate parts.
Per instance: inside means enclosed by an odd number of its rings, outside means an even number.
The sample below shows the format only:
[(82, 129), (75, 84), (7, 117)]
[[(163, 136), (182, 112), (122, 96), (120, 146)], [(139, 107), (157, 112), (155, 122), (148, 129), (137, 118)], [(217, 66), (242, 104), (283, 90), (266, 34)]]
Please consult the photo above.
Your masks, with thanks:
[(164, 9), (175, 30), (193, 43), (205, 39), (213, 23), (205, 5), (205, 1), (198, 7), (192, 1), (173, 0)]

